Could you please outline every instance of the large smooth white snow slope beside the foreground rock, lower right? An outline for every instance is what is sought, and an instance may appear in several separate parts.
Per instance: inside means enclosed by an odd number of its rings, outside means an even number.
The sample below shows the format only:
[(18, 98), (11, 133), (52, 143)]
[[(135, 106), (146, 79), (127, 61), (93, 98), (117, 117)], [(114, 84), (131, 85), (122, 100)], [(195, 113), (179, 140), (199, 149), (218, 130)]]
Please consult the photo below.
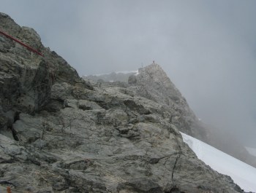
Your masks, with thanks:
[(197, 154), (197, 157), (217, 172), (233, 178), (233, 181), (245, 192), (256, 192), (256, 168), (209, 146), (202, 141), (181, 133), (185, 143)]

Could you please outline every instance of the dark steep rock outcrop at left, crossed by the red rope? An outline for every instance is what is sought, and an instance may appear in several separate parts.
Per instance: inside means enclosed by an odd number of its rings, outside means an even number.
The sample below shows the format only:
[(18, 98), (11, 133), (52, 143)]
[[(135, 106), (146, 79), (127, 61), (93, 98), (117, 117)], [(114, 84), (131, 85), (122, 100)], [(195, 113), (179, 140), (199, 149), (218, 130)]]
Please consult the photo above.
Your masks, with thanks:
[(53, 99), (50, 98), (53, 84), (67, 82), (90, 87), (63, 58), (42, 46), (39, 35), (33, 29), (20, 27), (8, 15), (1, 13), (0, 30), (44, 55), (42, 58), (11, 39), (0, 36), (1, 128), (7, 130), (11, 127), (20, 112), (34, 114), (42, 109)]

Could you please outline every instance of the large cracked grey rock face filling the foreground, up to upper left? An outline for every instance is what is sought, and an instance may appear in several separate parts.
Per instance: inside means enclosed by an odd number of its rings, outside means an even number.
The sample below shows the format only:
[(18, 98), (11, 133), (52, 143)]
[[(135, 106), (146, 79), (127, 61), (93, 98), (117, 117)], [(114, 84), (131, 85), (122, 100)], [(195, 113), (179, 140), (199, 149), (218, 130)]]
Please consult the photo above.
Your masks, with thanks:
[(0, 29), (44, 55), (0, 36), (0, 189), (243, 192), (182, 141), (178, 127), (189, 122), (189, 109), (177, 90), (170, 98), (184, 109), (162, 98), (169, 110), (132, 87), (92, 85), (43, 47), (34, 30), (4, 14)]

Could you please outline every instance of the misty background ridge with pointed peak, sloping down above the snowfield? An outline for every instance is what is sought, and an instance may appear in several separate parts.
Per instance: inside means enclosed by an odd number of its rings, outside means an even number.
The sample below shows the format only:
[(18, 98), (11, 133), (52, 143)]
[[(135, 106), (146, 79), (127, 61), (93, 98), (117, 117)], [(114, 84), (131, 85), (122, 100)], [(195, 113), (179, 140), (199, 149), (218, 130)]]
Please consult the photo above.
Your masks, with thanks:
[[(129, 74), (127, 74), (129, 75)], [(124, 76), (125, 78), (127, 77)], [(225, 133), (225, 130), (206, 125), (195, 116), (186, 99), (181, 92), (170, 81), (165, 71), (157, 63), (140, 68), (138, 74), (129, 76), (127, 82), (121, 74), (118, 82), (109, 82), (113, 77), (108, 76), (86, 76), (84, 78), (98, 80), (102, 87), (121, 86), (126, 87), (133, 95), (140, 95), (149, 100), (161, 103), (165, 111), (169, 111), (170, 121), (176, 125), (178, 130), (187, 133), (200, 141), (210, 144), (221, 151), (230, 154), (256, 168), (256, 157), (249, 154), (246, 148), (232, 135)], [(116, 76), (115, 76), (116, 77)], [(105, 82), (99, 81), (104, 79)]]

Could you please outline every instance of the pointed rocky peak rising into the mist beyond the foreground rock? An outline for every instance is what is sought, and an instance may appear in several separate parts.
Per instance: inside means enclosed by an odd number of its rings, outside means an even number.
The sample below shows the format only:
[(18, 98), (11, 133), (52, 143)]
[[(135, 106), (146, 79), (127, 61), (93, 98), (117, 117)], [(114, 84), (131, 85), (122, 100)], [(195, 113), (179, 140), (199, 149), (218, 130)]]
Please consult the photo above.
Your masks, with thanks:
[(186, 99), (157, 63), (139, 69), (137, 76), (130, 76), (129, 84), (136, 93), (172, 111), (171, 122), (182, 132), (206, 140), (206, 131), (189, 108)]

